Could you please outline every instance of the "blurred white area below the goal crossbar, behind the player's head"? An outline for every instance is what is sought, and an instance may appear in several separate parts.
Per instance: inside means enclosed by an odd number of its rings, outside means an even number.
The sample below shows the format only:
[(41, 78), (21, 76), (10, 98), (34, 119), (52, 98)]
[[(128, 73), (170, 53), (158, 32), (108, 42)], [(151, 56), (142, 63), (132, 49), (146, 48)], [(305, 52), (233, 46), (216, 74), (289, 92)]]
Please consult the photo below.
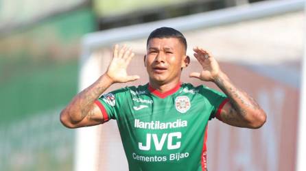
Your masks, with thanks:
[[(222, 25), (207, 29), (185, 31), (188, 49), (193, 47), (211, 51), (220, 61), (251, 64), (280, 64), (303, 57), (305, 15), (290, 12), (252, 21)], [(129, 44), (137, 53), (145, 53), (146, 39), (121, 42)], [(195, 58), (193, 58), (196, 60)]]

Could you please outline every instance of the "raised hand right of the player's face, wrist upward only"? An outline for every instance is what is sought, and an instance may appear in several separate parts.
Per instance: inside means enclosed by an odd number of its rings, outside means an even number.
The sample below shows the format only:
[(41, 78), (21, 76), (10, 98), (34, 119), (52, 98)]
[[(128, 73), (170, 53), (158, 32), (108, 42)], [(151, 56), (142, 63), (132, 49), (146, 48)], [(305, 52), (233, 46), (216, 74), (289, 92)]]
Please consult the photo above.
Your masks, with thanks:
[(195, 77), (202, 81), (215, 81), (215, 78), (220, 74), (220, 67), (212, 55), (202, 48), (193, 48), (193, 55), (200, 62), (203, 70), (201, 73), (191, 73), (189, 77)]

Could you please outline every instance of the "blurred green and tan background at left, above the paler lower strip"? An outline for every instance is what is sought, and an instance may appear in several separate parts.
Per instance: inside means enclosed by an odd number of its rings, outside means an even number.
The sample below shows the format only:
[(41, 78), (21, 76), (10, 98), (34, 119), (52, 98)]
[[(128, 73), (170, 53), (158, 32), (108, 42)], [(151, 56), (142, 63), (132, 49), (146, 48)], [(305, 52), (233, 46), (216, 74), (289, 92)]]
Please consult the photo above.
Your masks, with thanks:
[(0, 123), (66, 104), (77, 92), (84, 34), (95, 28), (89, 8), (46, 19), (0, 38)]

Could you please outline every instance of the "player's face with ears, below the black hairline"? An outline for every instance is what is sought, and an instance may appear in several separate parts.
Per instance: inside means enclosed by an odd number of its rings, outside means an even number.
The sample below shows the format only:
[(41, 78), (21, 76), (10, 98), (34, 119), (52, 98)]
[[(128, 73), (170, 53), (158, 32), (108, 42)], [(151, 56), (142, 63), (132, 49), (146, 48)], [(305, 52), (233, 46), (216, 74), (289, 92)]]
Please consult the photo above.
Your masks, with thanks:
[(178, 38), (149, 40), (145, 66), (150, 81), (159, 84), (180, 81), (181, 68), (185, 68), (188, 63), (185, 47)]

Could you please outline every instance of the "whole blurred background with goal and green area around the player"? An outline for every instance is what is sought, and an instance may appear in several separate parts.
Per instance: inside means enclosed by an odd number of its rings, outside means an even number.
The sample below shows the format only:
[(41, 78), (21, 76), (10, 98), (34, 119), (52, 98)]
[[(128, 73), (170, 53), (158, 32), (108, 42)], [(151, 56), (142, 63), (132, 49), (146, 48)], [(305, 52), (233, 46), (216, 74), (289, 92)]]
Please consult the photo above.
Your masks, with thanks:
[[(287, 8), (216, 19), (278, 3)], [(197, 14), (215, 25), (190, 27), (184, 17)], [(176, 24), (190, 56), (194, 46), (209, 49), (268, 114), (259, 130), (210, 122), (209, 170), (294, 170), (305, 43), (303, 1), (295, 0), (0, 0), (0, 170), (128, 170), (115, 121), (76, 131), (64, 128), (59, 114), (106, 70), (115, 43), (137, 53), (130, 73), (142, 79), (134, 84), (148, 82), (143, 30), (158, 21)], [(137, 31), (141, 36), (133, 36)], [(193, 58), (183, 81), (199, 84), (187, 78), (199, 69)]]

